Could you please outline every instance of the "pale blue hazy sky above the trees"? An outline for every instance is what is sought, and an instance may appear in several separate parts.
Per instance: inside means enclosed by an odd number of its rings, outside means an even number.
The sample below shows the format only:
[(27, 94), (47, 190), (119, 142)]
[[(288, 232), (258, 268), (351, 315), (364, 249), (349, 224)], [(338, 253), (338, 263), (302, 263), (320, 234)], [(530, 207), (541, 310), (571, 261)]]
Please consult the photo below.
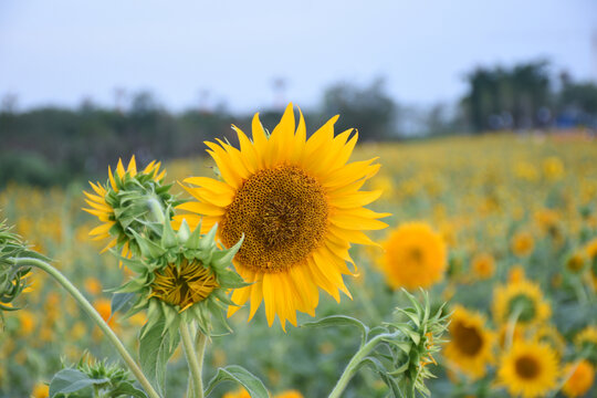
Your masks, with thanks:
[(476, 66), (540, 57), (597, 81), (597, 1), (0, 0), (0, 97), (20, 109), (112, 106), (116, 88), (172, 111), (308, 108), (376, 76), (399, 103), (431, 105), (463, 95)]

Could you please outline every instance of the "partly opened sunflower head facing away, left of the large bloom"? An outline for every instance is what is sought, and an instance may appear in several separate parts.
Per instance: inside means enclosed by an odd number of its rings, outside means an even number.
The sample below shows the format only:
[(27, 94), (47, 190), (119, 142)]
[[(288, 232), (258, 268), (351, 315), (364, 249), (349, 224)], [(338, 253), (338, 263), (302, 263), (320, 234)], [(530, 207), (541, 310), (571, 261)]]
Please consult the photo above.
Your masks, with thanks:
[(168, 192), (171, 186), (163, 185), (166, 170), (160, 171), (159, 167), (159, 163), (151, 161), (145, 169), (137, 171), (133, 156), (126, 169), (122, 160), (118, 160), (115, 172), (108, 167), (105, 185), (90, 181), (95, 193), (84, 192), (91, 208), (83, 210), (103, 222), (90, 231), (94, 240), (111, 239), (103, 251), (116, 247), (122, 250), (123, 256), (138, 254), (139, 248), (133, 231), (151, 233), (147, 223), (157, 221), (156, 212), (161, 213), (175, 205)]

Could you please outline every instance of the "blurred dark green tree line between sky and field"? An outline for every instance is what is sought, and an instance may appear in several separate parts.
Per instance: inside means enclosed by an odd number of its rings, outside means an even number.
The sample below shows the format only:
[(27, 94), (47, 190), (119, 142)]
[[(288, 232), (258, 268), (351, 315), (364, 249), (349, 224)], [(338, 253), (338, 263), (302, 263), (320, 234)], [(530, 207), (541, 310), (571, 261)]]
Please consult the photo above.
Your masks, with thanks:
[[(597, 86), (566, 74), (553, 77), (547, 62), (479, 67), (467, 74), (465, 83), (459, 103), (425, 109), (398, 104), (381, 78), (365, 86), (336, 83), (325, 90), (317, 108), (303, 109), (307, 130), (336, 114), (342, 115), (338, 129), (358, 127), (362, 142), (496, 129), (597, 128)], [(264, 126), (273, 128), (281, 112), (262, 112)], [(106, 165), (132, 154), (142, 161), (198, 156), (205, 140), (223, 136), (234, 143), (230, 125), (250, 126), (251, 117), (223, 108), (172, 114), (147, 92), (136, 94), (126, 109), (84, 102), (75, 109), (17, 112), (13, 101), (4, 101), (0, 188), (11, 180), (51, 186), (101, 176)]]

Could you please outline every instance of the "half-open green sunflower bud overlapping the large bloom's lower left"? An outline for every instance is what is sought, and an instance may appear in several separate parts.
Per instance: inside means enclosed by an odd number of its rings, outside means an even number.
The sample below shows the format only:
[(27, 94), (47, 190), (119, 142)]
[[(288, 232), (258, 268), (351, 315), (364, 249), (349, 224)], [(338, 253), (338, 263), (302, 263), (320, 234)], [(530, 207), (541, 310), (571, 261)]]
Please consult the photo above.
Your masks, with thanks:
[(242, 239), (230, 249), (220, 250), (214, 240), (217, 227), (201, 235), (200, 227), (191, 232), (184, 221), (175, 233), (170, 221), (166, 220), (158, 231), (158, 241), (134, 232), (139, 256), (123, 259), (123, 262), (135, 274), (117, 292), (138, 293), (128, 315), (148, 308), (144, 331), (160, 320), (166, 321), (169, 333), (177, 333), (179, 322), (190, 321), (197, 321), (208, 335), (213, 333), (212, 321), (228, 328), (223, 311), (234, 305), (228, 291), (245, 286), (240, 275), (230, 269)]

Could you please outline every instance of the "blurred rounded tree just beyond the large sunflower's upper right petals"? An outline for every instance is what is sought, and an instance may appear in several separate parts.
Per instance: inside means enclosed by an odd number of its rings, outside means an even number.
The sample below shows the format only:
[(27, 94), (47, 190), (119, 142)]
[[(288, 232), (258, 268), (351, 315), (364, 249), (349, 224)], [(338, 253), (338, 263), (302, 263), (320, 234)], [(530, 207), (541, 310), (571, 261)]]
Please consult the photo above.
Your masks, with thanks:
[(375, 80), (366, 87), (338, 83), (324, 93), (324, 115), (342, 115), (339, 130), (355, 127), (363, 140), (391, 137), (395, 133), (396, 111), (395, 102), (385, 92), (383, 78)]

